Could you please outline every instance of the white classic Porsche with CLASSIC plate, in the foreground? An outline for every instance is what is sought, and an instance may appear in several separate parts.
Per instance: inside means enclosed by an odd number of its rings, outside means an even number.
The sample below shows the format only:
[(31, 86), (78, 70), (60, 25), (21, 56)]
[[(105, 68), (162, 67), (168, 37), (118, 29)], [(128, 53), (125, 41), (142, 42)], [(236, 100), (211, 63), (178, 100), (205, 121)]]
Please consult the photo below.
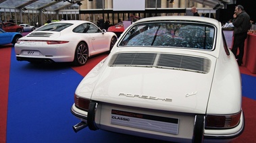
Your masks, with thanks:
[(222, 24), (207, 17), (140, 19), (78, 85), (75, 132), (107, 130), (172, 142), (242, 134), (242, 88)]

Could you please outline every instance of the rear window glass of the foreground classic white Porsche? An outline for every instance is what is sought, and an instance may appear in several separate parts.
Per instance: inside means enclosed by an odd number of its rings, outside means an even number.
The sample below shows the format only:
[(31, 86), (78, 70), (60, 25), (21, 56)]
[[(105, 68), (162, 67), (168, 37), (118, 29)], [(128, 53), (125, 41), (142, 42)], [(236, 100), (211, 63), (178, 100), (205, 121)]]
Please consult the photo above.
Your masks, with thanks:
[(160, 46), (212, 50), (215, 27), (205, 23), (156, 22), (134, 25), (119, 46)]

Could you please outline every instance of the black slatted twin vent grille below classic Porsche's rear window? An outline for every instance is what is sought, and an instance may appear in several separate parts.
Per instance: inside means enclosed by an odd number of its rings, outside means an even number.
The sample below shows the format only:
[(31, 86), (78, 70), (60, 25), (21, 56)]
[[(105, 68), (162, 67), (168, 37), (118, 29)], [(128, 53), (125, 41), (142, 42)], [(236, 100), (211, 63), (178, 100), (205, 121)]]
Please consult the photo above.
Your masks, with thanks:
[(119, 53), (112, 56), (109, 66), (146, 66), (208, 73), (211, 60), (197, 56), (160, 53)]

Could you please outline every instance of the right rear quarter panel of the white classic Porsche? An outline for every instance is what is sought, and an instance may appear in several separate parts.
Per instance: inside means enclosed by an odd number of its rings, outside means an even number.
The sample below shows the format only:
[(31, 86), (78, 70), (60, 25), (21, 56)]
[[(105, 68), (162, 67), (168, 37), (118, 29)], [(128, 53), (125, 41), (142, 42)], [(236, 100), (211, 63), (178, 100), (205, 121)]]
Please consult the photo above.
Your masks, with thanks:
[(215, 65), (207, 113), (238, 113), (242, 106), (240, 70), (234, 54), (229, 50), (228, 56), (224, 51), (224, 41), (220, 30), (218, 37), (216, 48), (220, 49), (220, 54)]

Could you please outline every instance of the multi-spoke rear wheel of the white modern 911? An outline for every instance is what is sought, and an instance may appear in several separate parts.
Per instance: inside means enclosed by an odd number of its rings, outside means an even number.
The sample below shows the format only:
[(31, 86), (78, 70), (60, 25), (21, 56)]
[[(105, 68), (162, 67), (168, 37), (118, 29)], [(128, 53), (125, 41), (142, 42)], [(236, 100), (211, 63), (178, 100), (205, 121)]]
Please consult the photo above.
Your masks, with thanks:
[(76, 46), (73, 64), (75, 66), (82, 66), (88, 60), (88, 46), (84, 42), (80, 42)]

